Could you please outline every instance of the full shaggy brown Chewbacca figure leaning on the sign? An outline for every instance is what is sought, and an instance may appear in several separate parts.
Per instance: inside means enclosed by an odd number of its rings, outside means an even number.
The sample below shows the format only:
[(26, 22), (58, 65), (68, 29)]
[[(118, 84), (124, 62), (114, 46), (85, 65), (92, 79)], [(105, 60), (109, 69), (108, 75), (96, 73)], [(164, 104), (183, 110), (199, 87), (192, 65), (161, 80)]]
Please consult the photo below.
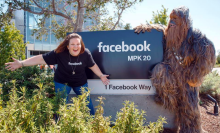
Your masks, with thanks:
[(175, 113), (180, 133), (200, 133), (199, 86), (215, 61), (213, 43), (193, 29), (189, 9), (179, 7), (170, 14), (168, 26), (140, 25), (135, 32), (157, 29), (164, 33), (163, 62), (152, 70), (155, 100)]

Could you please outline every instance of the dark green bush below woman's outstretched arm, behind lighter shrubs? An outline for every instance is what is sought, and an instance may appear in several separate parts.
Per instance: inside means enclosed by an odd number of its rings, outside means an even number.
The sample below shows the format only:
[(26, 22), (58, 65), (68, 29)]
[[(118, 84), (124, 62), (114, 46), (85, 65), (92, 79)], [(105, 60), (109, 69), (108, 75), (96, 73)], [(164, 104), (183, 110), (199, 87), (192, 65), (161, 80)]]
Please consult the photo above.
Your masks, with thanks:
[[(0, 68), (0, 83), (2, 84), (3, 100), (8, 101), (8, 94), (13, 88), (25, 87), (26, 95), (32, 96), (33, 90), (39, 88), (38, 83), (44, 84), (48, 97), (54, 95), (53, 73), (50, 69), (41, 70), (38, 66), (23, 67), (16, 71), (8, 71), (4, 67)], [(18, 94), (20, 96), (20, 94)]]

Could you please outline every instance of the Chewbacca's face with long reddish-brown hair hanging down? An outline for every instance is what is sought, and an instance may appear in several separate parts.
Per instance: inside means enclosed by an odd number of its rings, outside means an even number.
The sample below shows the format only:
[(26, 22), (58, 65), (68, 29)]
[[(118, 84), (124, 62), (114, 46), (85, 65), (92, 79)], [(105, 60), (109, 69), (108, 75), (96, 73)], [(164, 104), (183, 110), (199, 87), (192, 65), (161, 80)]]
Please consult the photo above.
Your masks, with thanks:
[(167, 48), (179, 49), (186, 37), (185, 23), (183, 18), (174, 10), (170, 14), (170, 21), (165, 30)]

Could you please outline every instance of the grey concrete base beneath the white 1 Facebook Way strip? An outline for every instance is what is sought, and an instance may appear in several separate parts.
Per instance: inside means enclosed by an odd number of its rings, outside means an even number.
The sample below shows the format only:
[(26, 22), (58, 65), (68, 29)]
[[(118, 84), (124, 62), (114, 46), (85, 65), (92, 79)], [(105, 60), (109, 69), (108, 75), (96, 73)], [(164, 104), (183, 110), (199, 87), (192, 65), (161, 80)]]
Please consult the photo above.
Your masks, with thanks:
[[(76, 96), (75, 94), (70, 94), (71, 97)], [(92, 94), (93, 106), (97, 106), (98, 102), (95, 101), (98, 97), (105, 97), (104, 116), (112, 116), (111, 121), (115, 121), (116, 113), (123, 108), (124, 101), (128, 100), (134, 102), (139, 110), (145, 110), (147, 113), (146, 121), (149, 123), (156, 122), (159, 116), (165, 117), (167, 124), (164, 125), (166, 128), (174, 129), (174, 115), (168, 109), (163, 108), (154, 102), (154, 95), (97, 95)], [(70, 102), (70, 100), (69, 100)], [(148, 124), (147, 123), (147, 124)]]

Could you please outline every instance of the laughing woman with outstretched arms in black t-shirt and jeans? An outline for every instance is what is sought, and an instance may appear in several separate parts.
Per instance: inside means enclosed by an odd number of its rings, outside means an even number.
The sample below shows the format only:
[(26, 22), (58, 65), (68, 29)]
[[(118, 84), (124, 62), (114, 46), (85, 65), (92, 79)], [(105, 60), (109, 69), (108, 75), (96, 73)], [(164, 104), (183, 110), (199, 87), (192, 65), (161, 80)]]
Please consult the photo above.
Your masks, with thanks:
[[(6, 69), (14, 71), (20, 67), (33, 66), (38, 64), (54, 65), (58, 67), (54, 75), (55, 92), (64, 91), (66, 100), (68, 94), (73, 88), (77, 95), (81, 95), (81, 87), (88, 87), (85, 68), (90, 68), (104, 85), (109, 84), (107, 77), (94, 62), (92, 55), (85, 48), (82, 37), (76, 33), (69, 34), (64, 41), (53, 51), (44, 55), (34, 56), (32, 58), (19, 61), (12, 58), (14, 62), (6, 63)], [(88, 99), (90, 114), (94, 115), (94, 108), (91, 98)]]

